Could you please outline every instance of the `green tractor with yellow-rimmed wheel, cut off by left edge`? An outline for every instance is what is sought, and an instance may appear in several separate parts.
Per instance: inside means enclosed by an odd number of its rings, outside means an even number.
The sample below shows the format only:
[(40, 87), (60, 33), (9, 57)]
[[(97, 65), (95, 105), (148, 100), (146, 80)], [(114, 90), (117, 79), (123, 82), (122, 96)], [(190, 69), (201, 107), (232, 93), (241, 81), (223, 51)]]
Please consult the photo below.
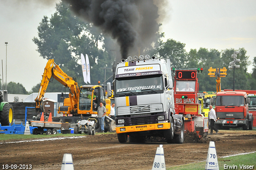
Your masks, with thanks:
[(3, 94), (0, 91), (0, 123), (2, 126), (12, 125), (13, 108), (8, 102), (3, 101)]

